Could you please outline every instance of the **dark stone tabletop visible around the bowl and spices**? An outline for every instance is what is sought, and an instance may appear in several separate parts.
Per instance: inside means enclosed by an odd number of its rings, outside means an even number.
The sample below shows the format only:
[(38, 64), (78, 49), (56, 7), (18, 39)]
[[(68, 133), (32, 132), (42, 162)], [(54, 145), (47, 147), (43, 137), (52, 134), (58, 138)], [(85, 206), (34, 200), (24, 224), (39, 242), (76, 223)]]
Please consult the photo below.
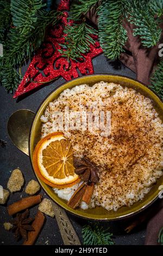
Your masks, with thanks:
[[(135, 74), (123, 66), (121, 63), (112, 63), (106, 60), (106, 58), (101, 54), (101, 56), (93, 59), (93, 66), (95, 74), (119, 74), (135, 78)], [(27, 66), (23, 67), (23, 73), (27, 69)], [(52, 83), (49, 86), (44, 86), (37, 90), (34, 93), (29, 94), (28, 96), (23, 97), (19, 100), (13, 100), (12, 95), (5, 92), (3, 87), (0, 87), (0, 138), (4, 139), (7, 142), (5, 148), (0, 147), (0, 185), (4, 188), (7, 188), (7, 182), (11, 174), (11, 170), (19, 167), (24, 174), (27, 185), (28, 181), (31, 179), (36, 179), (33, 173), (33, 169), (30, 166), (29, 157), (24, 155), (20, 150), (18, 150), (10, 141), (7, 132), (7, 121), (10, 115), (17, 109), (27, 108), (32, 111), (40, 106), (45, 97), (58, 87), (60, 84), (64, 83), (63, 78), (59, 78), (57, 81)], [(44, 191), (41, 191), (43, 197), (48, 197)], [(16, 202), (22, 197), (26, 197), (27, 194), (24, 193), (24, 187), (22, 192), (16, 192), (10, 194), (8, 200), (8, 205)], [(37, 206), (30, 209), (30, 216), (35, 216), (37, 211)], [(70, 220), (77, 231), (77, 234), (82, 241), (82, 226), (85, 224), (85, 220), (81, 218), (74, 217), (71, 214), (68, 214)], [(11, 232), (4, 230), (3, 223), (11, 220), (7, 213), (6, 205), (0, 206), (0, 245), (16, 245), (22, 243), (22, 241), (16, 242), (14, 236)], [(143, 245), (145, 241), (146, 234), (146, 225), (141, 225), (141, 227), (136, 228), (131, 234), (126, 234), (122, 228), (124, 221), (116, 222), (105, 222), (102, 223), (104, 227), (110, 227), (111, 233), (114, 234), (114, 241), (116, 245)], [(62, 239), (59, 233), (59, 228), (55, 218), (48, 217), (46, 218), (45, 226), (43, 227), (37, 241), (36, 245), (45, 245), (45, 242), (48, 241), (48, 245), (62, 245)]]

